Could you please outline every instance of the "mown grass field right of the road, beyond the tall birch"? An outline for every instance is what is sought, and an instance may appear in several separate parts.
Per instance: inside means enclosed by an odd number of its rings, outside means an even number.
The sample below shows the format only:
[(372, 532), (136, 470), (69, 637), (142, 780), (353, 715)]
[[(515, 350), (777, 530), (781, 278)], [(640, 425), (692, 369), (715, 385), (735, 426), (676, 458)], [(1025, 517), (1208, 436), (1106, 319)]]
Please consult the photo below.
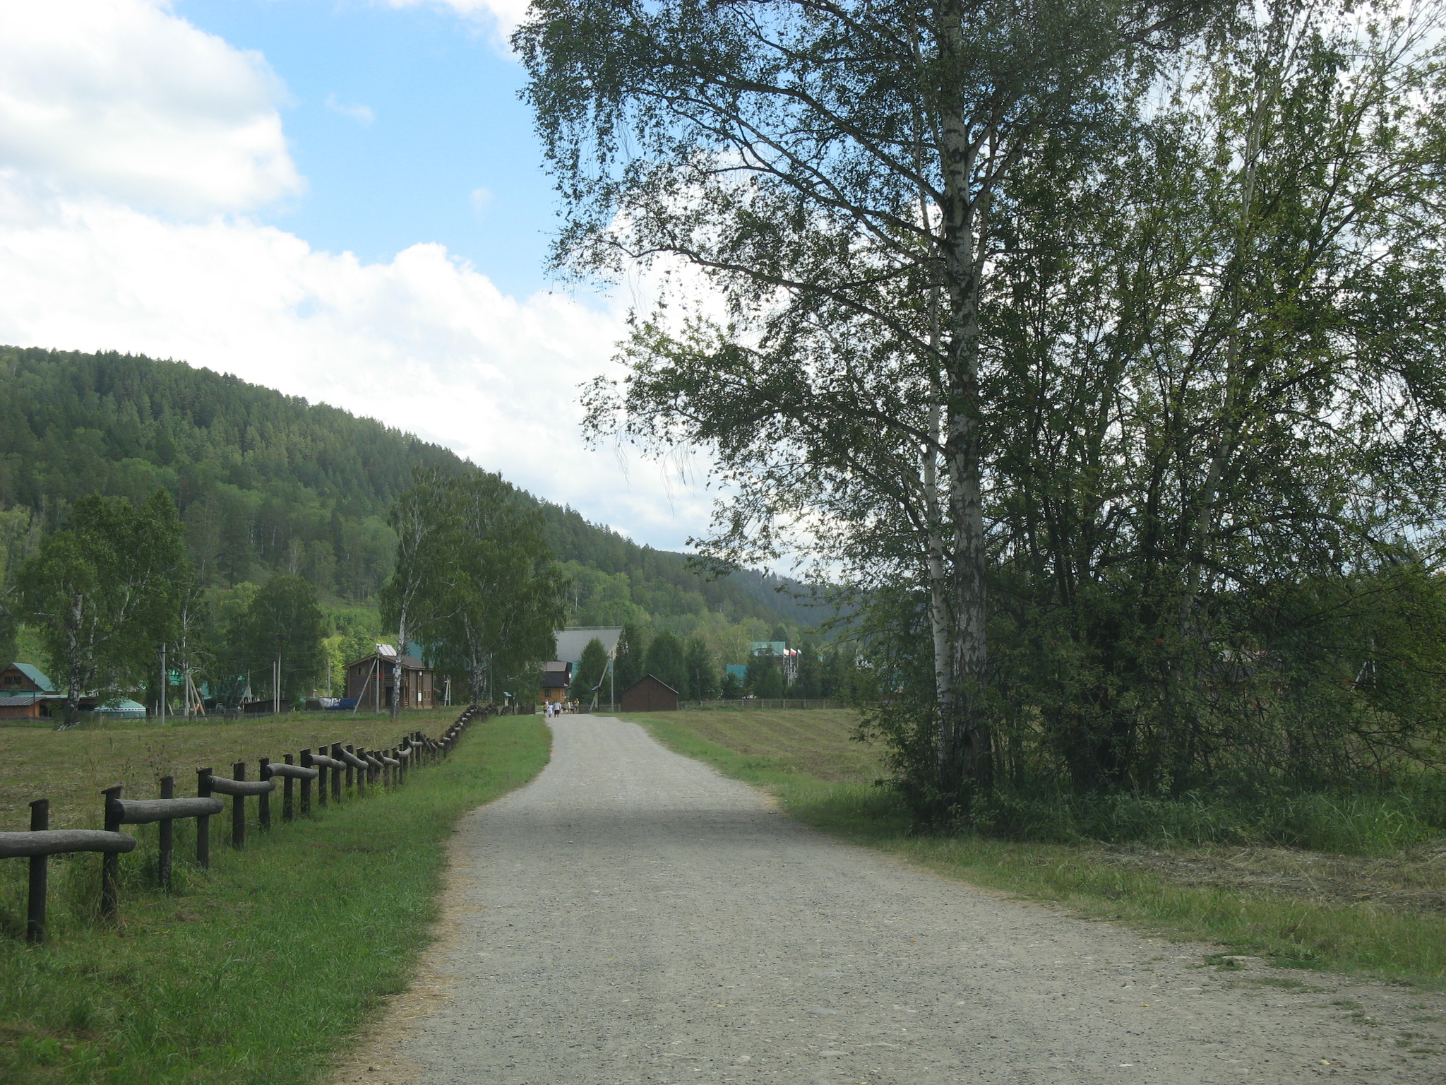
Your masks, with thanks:
[(830, 784), (872, 784), (884, 774), (878, 746), (853, 739), (859, 713), (847, 709), (648, 712), (626, 719), (675, 723), (707, 742)]

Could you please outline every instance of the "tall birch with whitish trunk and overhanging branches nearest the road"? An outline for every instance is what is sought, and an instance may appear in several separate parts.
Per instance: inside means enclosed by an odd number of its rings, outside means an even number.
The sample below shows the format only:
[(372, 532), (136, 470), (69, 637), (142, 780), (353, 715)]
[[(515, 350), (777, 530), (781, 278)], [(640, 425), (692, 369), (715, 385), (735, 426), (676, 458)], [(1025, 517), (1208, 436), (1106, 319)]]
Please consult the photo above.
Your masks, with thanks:
[[(736, 485), (709, 553), (791, 535), (865, 580), (923, 573), (946, 814), (992, 771), (980, 308), (1004, 185), (1098, 137), (1131, 64), (1202, 7), (539, 0), (515, 38), (558, 262), (685, 265), (723, 299), (645, 314), (623, 396), (628, 433), (704, 446)], [(616, 407), (597, 386), (594, 427)], [(884, 550), (881, 505), (902, 512)]]

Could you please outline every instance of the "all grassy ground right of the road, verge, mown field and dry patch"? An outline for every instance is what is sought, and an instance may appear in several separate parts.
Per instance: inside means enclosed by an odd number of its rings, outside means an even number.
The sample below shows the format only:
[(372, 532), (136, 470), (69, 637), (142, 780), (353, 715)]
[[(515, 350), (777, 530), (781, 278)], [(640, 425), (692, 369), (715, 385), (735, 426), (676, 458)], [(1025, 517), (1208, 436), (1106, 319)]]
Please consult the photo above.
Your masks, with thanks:
[[(782, 719), (805, 718), (805, 719)], [(1223, 943), (1280, 965), (1446, 990), (1446, 852), (1384, 856), (1285, 848), (1060, 845), (914, 835), (898, 800), (865, 786), (878, 751), (844, 712), (628, 716), (665, 745), (779, 797), (801, 820), (977, 885), (1084, 916)], [(823, 775), (829, 773), (829, 775)]]

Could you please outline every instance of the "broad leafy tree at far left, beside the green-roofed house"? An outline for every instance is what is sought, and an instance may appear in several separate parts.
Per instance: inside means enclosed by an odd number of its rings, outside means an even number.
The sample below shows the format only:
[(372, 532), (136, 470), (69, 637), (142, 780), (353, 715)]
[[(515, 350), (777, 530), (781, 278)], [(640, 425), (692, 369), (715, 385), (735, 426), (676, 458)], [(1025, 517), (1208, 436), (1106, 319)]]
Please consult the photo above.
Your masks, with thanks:
[(87, 692), (145, 681), (175, 628), (181, 557), (175, 502), (156, 490), (139, 508), (81, 498), (69, 527), (22, 566), (20, 616), (40, 631), (46, 663), (65, 683), (65, 726)]

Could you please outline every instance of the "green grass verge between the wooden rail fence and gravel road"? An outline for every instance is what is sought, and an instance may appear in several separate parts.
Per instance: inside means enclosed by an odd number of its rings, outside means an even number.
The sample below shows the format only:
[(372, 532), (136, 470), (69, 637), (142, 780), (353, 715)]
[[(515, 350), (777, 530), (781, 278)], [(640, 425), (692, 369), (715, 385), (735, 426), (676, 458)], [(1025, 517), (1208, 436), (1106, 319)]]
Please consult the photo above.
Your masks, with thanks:
[[(211, 760), (220, 761), (223, 749), (228, 764), (250, 749), (307, 745), (309, 731), (288, 729), (296, 722), (239, 723), (224, 746), (211, 746)], [(237, 741), (266, 726), (282, 731)], [(395, 741), (390, 720), (359, 726), (379, 726), (388, 744)], [(440, 729), (421, 713), (409, 713), (408, 726)], [(51, 738), (71, 741), (68, 733)], [(330, 720), (315, 733), (373, 741)], [(549, 742), (541, 716), (477, 723), (450, 758), (395, 791), (331, 806), (265, 836), (253, 830), (244, 852), (224, 846), (223, 830), (211, 869), (181, 864), (174, 894), (149, 888), (153, 836), (142, 833), (142, 846), (121, 858), (116, 929), (91, 913), (98, 856), (56, 862), (52, 939), (40, 948), (17, 937), (26, 864), (0, 862), (0, 1082), (314, 1081), (379, 1001), (403, 990), (428, 940), (457, 819), (536, 775)], [(114, 749), (126, 757), (129, 748)], [(204, 749), (185, 746), (185, 765)], [(181, 839), (176, 855), (188, 855)]]

